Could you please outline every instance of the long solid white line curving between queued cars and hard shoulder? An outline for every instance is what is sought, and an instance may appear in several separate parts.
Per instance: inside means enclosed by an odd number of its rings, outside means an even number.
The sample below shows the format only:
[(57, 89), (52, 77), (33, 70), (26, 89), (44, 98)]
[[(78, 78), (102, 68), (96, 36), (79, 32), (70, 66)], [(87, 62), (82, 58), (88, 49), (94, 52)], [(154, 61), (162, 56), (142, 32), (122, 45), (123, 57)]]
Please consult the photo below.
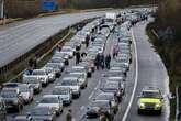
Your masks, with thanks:
[(131, 96), (131, 101), (127, 106), (127, 109), (123, 116), (123, 119), (122, 121), (126, 121), (126, 118), (128, 116), (128, 112), (131, 110), (131, 107), (132, 107), (132, 103), (133, 103), (133, 100), (134, 100), (134, 97), (135, 97), (135, 91), (136, 91), (136, 87), (137, 87), (137, 79), (138, 79), (138, 61), (137, 61), (137, 46), (136, 46), (136, 42), (135, 42), (135, 36), (134, 36), (134, 33), (133, 33), (133, 29), (132, 29), (132, 40), (133, 40), (133, 44), (134, 44), (134, 47), (135, 47), (135, 61), (136, 61), (136, 74), (135, 74), (135, 84), (134, 84), (134, 88), (133, 88), (133, 91), (132, 91), (132, 96)]

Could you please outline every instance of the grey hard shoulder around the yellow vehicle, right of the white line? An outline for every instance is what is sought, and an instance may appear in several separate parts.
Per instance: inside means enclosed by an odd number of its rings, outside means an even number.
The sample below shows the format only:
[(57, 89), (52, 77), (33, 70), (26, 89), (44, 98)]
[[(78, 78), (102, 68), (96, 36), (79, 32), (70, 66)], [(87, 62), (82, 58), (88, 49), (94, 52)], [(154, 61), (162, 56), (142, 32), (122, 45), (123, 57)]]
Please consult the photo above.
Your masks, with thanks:
[[(152, 19), (149, 19), (149, 21), (152, 21)], [(133, 28), (138, 54), (138, 84), (126, 121), (168, 121), (169, 118), (169, 101), (167, 97), (165, 97), (165, 107), (161, 116), (137, 114), (137, 96), (145, 86), (159, 87), (165, 96), (169, 94), (167, 70), (161, 58), (148, 42), (148, 36), (145, 32), (147, 23), (140, 22)]]

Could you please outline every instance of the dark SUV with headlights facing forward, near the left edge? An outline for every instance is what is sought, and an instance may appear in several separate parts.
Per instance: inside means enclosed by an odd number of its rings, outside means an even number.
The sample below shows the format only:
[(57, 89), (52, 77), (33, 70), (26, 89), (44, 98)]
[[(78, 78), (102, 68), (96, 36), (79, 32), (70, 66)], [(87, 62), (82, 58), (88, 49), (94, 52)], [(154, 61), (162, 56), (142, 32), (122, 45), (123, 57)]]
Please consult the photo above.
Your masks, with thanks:
[(5, 102), (7, 110), (15, 109), (19, 112), (23, 109), (23, 99), (16, 89), (2, 89), (0, 96)]

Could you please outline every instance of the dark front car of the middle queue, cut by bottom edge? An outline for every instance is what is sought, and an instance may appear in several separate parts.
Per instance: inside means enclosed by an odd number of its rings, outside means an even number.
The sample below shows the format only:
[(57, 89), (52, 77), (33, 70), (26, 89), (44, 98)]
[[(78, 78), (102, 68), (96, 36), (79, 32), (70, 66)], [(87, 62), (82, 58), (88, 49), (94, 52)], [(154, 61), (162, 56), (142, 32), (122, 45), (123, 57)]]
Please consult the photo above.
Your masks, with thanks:
[(29, 112), (35, 121), (56, 121), (56, 111), (48, 107), (36, 107)]

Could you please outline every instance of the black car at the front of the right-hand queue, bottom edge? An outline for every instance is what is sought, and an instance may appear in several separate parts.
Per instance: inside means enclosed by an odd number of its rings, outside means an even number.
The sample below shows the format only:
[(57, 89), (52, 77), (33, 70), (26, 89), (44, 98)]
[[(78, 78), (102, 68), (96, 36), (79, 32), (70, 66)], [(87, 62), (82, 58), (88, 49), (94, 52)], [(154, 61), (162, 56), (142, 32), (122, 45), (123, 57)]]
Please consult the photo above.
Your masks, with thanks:
[(93, 100), (88, 106), (86, 116), (87, 119), (105, 116), (109, 121), (112, 121), (114, 118), (114, 110), (111, 108), (111, 103), (108, 100)]

